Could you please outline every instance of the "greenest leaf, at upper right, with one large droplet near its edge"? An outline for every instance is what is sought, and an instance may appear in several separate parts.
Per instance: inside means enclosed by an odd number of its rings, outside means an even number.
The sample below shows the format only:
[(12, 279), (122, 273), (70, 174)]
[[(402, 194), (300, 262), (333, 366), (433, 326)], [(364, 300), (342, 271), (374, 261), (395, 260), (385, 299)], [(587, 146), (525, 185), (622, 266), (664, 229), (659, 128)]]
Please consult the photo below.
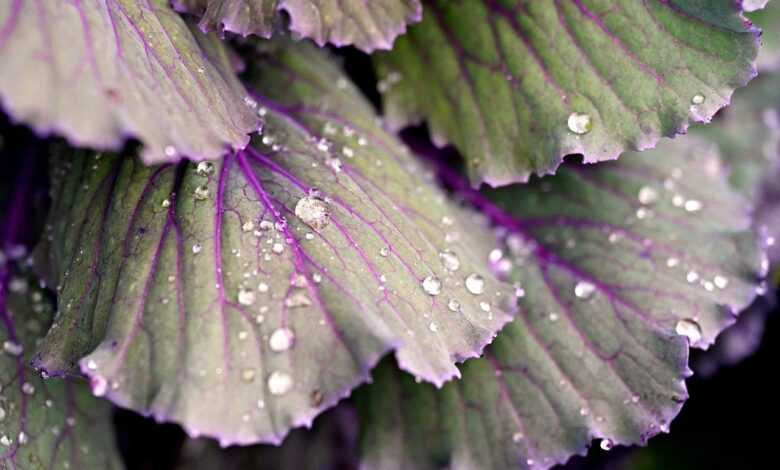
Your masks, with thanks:
[(477, 183), (653, 147), (755, 75), (758, 32), (731, 0), (423, 4), (424, 20), (376, 56), (379, 91), (393, 126), (427, 120)]

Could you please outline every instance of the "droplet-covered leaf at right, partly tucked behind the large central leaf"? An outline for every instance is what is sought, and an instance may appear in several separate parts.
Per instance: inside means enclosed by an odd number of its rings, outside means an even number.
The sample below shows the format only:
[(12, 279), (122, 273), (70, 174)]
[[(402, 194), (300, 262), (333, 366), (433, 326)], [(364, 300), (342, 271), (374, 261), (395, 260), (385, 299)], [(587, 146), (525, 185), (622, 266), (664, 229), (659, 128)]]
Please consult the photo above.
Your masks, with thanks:
[(356, 392), (365, 468), (549, 468), (666, 431), (687, 398), (688, 347), (754, 298), (745, 198), (711, 144), (688, 138), (467, 198), (506, 231), (495, 268), (520, 313), (441, 390), (391, 363)]

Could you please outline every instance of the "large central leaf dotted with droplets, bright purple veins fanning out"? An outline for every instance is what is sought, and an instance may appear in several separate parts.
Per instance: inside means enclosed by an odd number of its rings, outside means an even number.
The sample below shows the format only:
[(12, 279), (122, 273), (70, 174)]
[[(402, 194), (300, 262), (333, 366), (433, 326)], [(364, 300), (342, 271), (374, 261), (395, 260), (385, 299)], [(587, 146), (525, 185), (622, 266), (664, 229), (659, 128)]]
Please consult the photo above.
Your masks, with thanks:
[(223, 444), (280, 442), (391, 350), (441, 385), (514, 304), (484, 263), (486, 221), (448, 202), (321, 52), (257, 62), (265, 127), (245, 151), (52, 159), (61, 308), (36, 365), (80, 360), (96, 394)]

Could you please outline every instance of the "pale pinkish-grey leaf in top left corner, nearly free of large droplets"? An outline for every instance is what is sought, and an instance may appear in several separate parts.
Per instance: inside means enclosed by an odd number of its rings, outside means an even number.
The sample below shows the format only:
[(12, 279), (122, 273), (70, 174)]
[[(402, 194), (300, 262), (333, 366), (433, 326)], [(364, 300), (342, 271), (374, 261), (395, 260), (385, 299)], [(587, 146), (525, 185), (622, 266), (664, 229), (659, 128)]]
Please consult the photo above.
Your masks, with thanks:
[(80, 146), (144, 144), (147, 163), (213, 159), (258, 123), (219, 38), (167, 0), (0, 3), (0, 101)]

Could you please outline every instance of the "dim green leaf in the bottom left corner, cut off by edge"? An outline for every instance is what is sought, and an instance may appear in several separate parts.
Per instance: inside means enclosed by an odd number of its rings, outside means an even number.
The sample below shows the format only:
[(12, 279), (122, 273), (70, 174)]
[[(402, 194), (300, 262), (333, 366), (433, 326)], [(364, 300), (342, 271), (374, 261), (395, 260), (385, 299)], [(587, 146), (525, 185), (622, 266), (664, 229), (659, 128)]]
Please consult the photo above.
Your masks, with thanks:
[(52, 320), (49, 293), (0, 263), (0, 468), (121, 469), (111, 407), (78, 379), (43, 380), (28, 361)]

